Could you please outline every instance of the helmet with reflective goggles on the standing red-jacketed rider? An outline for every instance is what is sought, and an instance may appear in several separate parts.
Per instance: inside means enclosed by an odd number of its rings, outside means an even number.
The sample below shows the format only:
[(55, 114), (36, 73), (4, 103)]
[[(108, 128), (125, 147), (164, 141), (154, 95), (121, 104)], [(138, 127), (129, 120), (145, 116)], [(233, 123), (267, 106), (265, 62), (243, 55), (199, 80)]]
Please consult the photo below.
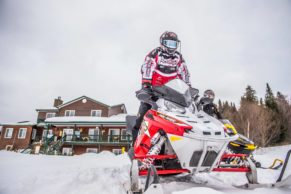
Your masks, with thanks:
[(166, 31), (161, 35), (160, 43), (165, 51), (172, 54), (177, 50), (180, 40), (176, 33)]

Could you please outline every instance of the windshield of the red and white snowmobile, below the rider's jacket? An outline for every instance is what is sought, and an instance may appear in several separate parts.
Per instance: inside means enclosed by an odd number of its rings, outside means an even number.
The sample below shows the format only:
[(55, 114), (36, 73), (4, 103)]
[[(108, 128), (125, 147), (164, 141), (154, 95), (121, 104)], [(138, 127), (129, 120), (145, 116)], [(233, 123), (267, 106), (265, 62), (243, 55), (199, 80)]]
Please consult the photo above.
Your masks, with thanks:
[(181, 79), (173, 79), (163, 86), (155, 86), (153, 91), (158, 97), (183, 107), (189, 107), (192, 102), (190, 87)]

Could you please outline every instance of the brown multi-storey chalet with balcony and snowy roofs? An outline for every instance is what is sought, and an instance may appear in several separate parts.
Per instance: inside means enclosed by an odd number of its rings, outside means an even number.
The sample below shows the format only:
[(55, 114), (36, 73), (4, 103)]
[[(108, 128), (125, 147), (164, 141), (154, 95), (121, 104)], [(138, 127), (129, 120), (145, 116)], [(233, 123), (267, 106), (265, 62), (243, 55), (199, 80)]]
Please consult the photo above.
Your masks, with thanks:
[[(103, 150), (120, 154), (130, 147), (124, 104), (109, 106), (87, 96), (63, 103), (58, 97), (53, 107), (36, 111), (37, 123), (26, 123), (26, 129), (22, 123), (3, 124), (0, 149), (73, 155)], [(24, 132), (25, 141), (18, 138), (23, 138)]]

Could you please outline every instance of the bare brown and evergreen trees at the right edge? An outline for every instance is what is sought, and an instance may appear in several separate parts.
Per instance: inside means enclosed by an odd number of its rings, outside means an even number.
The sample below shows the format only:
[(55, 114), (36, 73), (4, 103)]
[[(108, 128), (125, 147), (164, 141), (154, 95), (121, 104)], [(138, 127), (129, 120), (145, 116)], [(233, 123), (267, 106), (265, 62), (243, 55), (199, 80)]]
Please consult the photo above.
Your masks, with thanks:
[(218, 110), (259, 146), (291, 143), (291, 102), (281, 92), (274, 95), (268, 83), (264, 99), (258, 99), (248, 85), (238, 109), (234, 103), (219, 100)]

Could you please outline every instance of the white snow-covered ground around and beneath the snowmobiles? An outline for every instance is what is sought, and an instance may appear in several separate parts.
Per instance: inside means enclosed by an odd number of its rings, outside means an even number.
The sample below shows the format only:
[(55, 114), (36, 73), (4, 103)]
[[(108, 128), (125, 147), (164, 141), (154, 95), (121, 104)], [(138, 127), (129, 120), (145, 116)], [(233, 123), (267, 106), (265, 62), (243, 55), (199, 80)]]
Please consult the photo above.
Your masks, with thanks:
[[(255, 158), (269, 166), (274, 158), (284, 159), (291, 145), (258, 150)], [(0, 151), (0, 194), (122, 194), (129, 185), (130, 160), (111, 152), (80, 156), (27, 155)], [(261, 183), (275, 182), (279, 170), (258, 170)], [(290, 171), (287, 172), (291, 174)], [(238, 189), (247, 182), (243, 173), (199, 174), (193, 183), (171, 182), (164, 186), (172, 194), (281, 194), (285, 189)]]

